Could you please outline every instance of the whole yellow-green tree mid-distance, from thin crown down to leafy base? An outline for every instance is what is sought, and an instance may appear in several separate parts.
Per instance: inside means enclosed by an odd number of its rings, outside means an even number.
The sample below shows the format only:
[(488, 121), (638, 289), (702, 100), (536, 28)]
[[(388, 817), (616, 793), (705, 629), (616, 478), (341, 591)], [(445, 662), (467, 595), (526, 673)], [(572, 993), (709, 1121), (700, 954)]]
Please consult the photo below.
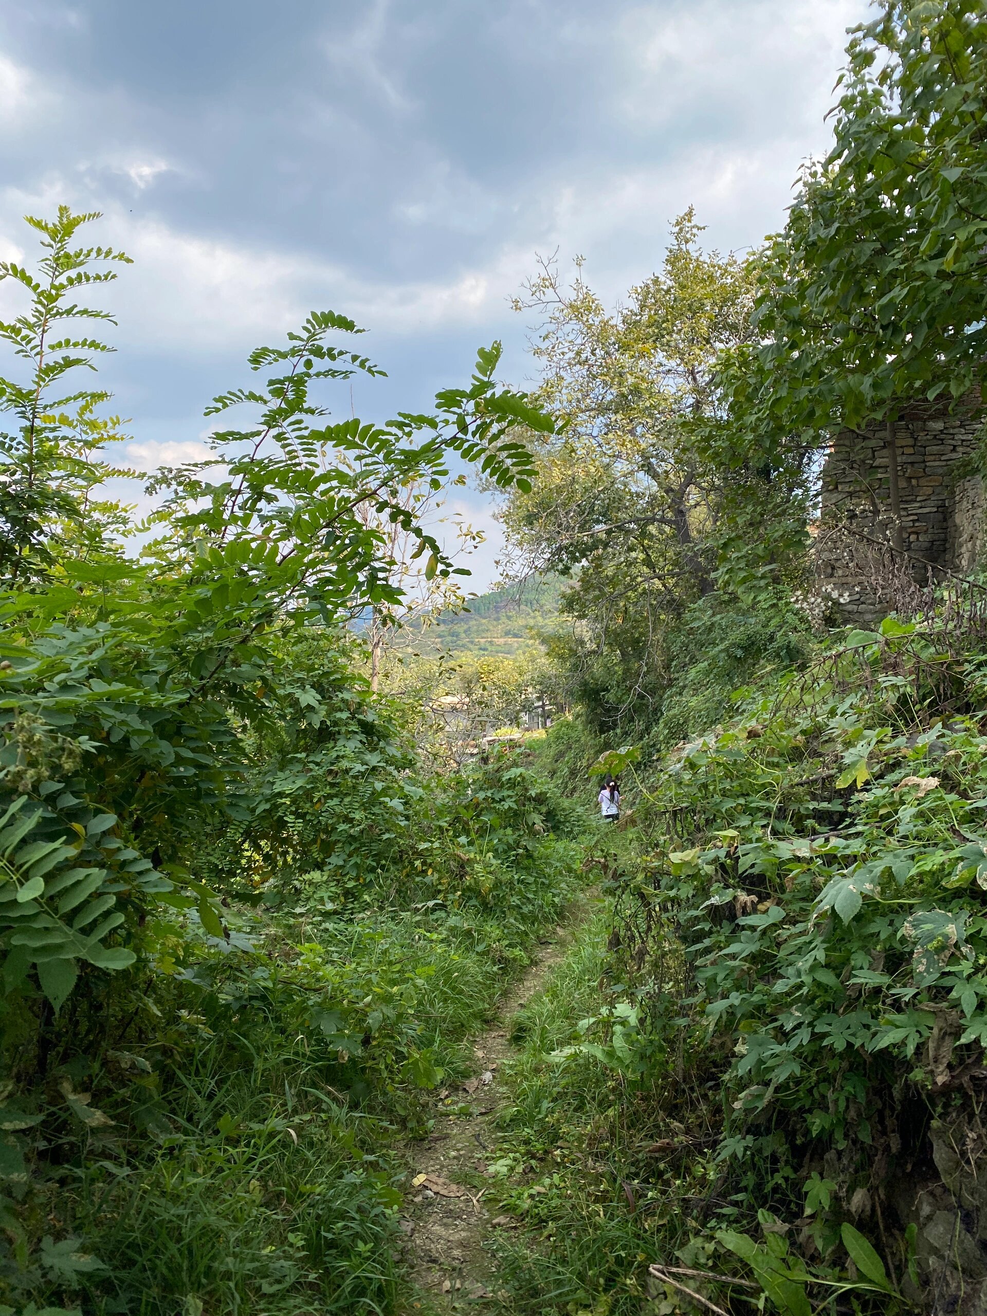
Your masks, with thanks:
[(612, 313), (582, 261), (569, 288), (545, 262), (516, 301), (545, 313), (538, 399), (559, 426), (533, 445), (537, 486), (511, 496), (505, 522), (521, 570), (578, 572), (566, 661), (584, 699), (615, 716), (659, 700), (663, 637), (715, 591), (724, 511), (749, 479), (725, 470), (712, 440), (720, 354), (751, 340), (753, 272), (704, 253), (701, 232), (682, 215), (661, 271)]

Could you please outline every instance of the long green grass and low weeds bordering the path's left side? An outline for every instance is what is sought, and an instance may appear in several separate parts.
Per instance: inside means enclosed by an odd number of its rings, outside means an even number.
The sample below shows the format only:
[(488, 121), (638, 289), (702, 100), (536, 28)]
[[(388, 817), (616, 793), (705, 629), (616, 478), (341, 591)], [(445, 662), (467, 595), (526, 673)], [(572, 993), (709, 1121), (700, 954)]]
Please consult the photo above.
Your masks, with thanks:
[(86, 979), (8, 1112), (32, 1188), (17, 1236), (0, 1199), (0, 1316), (393, 1316), (408, 1140), (586, 882), (582, 820), (525, 770), (450, 796), (386, 879), (232, 898), (228, 938), (166, 916)]

